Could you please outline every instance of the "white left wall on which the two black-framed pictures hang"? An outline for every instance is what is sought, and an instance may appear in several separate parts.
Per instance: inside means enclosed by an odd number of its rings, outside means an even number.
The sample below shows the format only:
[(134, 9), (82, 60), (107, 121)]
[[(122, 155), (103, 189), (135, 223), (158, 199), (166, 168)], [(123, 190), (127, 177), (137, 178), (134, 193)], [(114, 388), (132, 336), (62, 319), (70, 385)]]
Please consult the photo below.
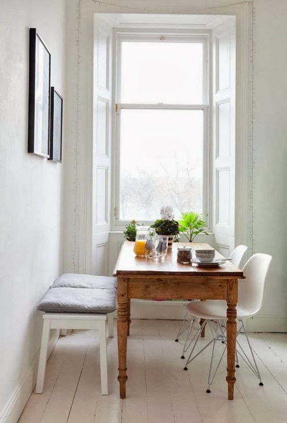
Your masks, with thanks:
[(64, 93), (65, 0), (1, 0), (0, 9), (0, 421), (4, 421), (14, 402), (19, 410), (19, 401), (31, 393), (27, 383), (33, 380), (41, 339), (36, 305), (62, 266), (62, 165), (26, 151), (29, 27), (37, 28), (50, 49), (51, 84)]

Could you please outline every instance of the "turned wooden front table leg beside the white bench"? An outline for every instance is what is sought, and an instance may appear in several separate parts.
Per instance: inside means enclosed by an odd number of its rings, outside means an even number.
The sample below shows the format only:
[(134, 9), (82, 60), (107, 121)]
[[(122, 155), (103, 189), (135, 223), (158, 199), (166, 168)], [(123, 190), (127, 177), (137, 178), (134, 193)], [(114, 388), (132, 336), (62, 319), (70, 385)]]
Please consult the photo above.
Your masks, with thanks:
[(118, 277), (118, 356), (120, 398), (126, 398), (127, 334), (128, 334), (128, 279)]

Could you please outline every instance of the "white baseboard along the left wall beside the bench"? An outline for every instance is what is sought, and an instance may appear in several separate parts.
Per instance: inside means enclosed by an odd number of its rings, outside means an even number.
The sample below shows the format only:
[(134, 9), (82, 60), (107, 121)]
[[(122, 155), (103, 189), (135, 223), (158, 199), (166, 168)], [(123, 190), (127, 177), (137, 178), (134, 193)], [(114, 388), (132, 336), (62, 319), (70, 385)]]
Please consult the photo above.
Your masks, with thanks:
[[(60, 330), (51, 330), (51, 337), (48, 345), (48, 357), (53, 351), (56, 342), (59, 339)], [(33, 392), (36, 385), (39, 353), (36, 354), (30, 369), (25, 374), (20, 383), (12, 392), (9, 400), (7, 401), (4, 409), (0, 413), (0, 423), (16, 423)]]

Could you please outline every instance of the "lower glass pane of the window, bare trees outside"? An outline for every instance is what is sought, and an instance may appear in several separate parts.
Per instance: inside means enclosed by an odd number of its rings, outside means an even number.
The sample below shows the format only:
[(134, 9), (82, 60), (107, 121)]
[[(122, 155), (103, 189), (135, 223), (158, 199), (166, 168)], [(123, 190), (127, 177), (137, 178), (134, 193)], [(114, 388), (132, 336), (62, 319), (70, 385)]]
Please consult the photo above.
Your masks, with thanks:
[(120, 219), (203, 211), (203, 111), (121, 110)]

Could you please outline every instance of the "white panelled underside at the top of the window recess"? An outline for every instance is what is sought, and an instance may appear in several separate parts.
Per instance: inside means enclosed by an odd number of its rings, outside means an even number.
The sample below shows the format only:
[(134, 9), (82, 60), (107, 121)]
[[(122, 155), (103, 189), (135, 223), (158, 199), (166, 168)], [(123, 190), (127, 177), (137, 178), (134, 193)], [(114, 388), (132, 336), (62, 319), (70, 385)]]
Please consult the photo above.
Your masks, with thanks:
[(188, 28), (212, 29), (229, 16), (223, 15), (154, 15), (134, 13), (101, 13), (104, 20), (118, 28)]

